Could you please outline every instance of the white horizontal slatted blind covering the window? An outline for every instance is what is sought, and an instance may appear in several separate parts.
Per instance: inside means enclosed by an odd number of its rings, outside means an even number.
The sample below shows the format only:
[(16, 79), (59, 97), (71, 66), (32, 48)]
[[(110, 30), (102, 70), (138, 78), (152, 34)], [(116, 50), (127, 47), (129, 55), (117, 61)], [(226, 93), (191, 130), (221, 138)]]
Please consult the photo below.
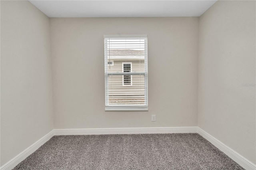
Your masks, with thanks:
[(104, 36), (106, 111), (148, 110), (147, 47), (147, 35)]

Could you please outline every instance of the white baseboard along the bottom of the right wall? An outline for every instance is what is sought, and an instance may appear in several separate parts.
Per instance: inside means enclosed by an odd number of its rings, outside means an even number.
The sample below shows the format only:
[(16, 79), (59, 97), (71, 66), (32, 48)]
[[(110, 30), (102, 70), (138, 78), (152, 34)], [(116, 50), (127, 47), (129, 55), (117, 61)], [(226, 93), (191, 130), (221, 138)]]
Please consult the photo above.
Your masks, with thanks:
[(211, 142), (214, 146), (216, 146), (219, 150), (224, 152), (224, 154), (228, 155), (232, 160), (238, 163), (246, 170), (256, 170), (256, 165), (250, 162), (248, 159), (244, 158), (244, 156), (238, 154), (238, 152), (234, 151), (230, 147), (226, 146), (224, 143), (220, 142), (220, 140), (214, 138), (212, 135), (207, 133), (206, 131), (202, 130), (198, 127), (198, 134), (203, 136), (206, 140)]

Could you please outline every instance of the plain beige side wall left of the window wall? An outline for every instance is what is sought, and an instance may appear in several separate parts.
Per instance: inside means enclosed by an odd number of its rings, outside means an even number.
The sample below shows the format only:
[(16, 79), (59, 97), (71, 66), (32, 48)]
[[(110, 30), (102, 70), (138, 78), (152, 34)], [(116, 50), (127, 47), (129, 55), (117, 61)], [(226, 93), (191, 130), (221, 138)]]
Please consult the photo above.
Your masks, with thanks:
[(1, 0), (1, 166), (53, 129), (49, 18)]

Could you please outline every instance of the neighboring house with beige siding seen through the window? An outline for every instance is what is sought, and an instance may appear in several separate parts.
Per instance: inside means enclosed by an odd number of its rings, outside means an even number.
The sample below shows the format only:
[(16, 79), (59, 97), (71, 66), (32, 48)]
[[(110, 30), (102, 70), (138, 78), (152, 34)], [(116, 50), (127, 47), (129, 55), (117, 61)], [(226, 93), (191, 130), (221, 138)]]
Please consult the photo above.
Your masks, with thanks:
[[(108, 58), (109, 73), (144, 71), (144, 50), (111, 49), (108, 53), (111, 56)], [(145, 103), (144, 75), (109, 75), (108, 84), (110, 103)]]

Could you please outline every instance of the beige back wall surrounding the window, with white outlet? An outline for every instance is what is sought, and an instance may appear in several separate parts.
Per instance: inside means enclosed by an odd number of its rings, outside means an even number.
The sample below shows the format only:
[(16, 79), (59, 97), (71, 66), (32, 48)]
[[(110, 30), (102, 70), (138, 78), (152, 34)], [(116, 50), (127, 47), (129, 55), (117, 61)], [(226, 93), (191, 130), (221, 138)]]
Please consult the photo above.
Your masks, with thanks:
[[(50, 18), (54, 128), (196, 126), (198, 20)], [(148, 112), (104, 111), (104, 34), (148, 34)]]

